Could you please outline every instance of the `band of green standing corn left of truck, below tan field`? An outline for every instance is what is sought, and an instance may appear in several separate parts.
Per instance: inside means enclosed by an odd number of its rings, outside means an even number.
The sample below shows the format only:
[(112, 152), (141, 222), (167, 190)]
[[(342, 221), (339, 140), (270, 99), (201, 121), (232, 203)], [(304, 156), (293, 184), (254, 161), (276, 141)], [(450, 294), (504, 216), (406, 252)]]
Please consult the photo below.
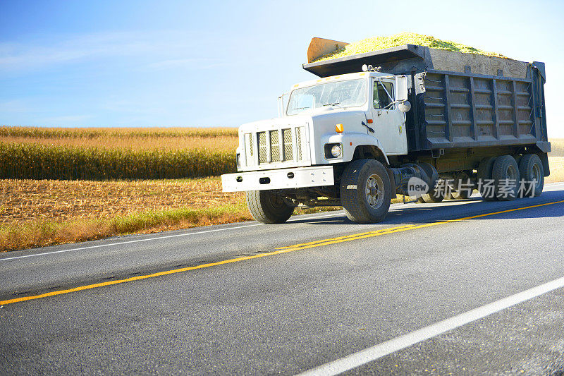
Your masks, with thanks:
[(170, 179), (232, 171), (235, 153), (231, 150), (130, 150), (0, 142), (0, 178)]

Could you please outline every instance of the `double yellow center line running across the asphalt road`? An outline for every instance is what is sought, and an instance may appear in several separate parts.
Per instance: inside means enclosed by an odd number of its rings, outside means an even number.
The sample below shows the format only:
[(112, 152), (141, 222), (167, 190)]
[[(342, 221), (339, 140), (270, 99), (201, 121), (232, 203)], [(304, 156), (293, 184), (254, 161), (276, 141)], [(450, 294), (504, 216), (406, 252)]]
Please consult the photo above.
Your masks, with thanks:
[(555, 201), (555, 202), (546, 202), (544, 204), (539, 204), (539, 205), (531, 205), (531, 206), (527, 206), (527, 207), (517, 207), (515, 209), (501, 210), (500, 212), (491, 212), (491, 213), (486, 213), (486, 214), (473, 215), (472, 217), (447, 219), (445, 221), (431, 222), (431, 223), (427, 223), (427, 224), (406, 224), (406, 225), (403, 225), (403, 226), (391, 227), (391, 228), (388, 228), (388, 229), (381, 229), (381, 230), (376, 230), (376, 231), (367, 231), (367, 232), (363, 232), (363, 233), (360, 233), (360, 234), (338, 236), (336, 238), (323, 239), (323, 240), (319, 240), (319, 241), (310, 241), (308, 243), (300, 243), (300, 244), (295, 244), (295, 245), (289, 245), (287, 247), (276, 248), (276, 250), (274, 250), (272, 252), (260, 253), (258, 255), (237, 257), (237, 258), (232, 258), (232, 259), (229, 259), (229, 260), (223, 260), (223, 261), (219, 261), (219, 262), (209, 262), (208, 264), (197, 265), (197, 266), (194, 266), (194, 267), (182, 267), (180, 269), (172, 269), (172, 270), (167, 270), (165, 272), (146, 274), (146, 275), (130, 277), (130, 278), (126, 278), (126, 279), (116, 279), (114, 281), (105, 281), (105, 282), (101, 282), (99, 284), (88, 284), (88, 285), (85, 285), (85, 286), (75, 287), (73, 289), (51, 291), (49, 293), (42, 293), (40, 295), (35, 295), (35, 296), (22, 296), (20, 298), (14, 298), (14, 299), (8, 299), (6, 301), (0, 301), (0, 305), (18, 303), (18, 302), (22, 302), (22, 301), (31, 301), (33, 299), (47, 298), (48, 296), (56, 296), (56, 295), (61, 295), (63, 293), (73, 293), (73, 292), (76, 292), (76, 291), (96, 289), (98, 287), (110, 286), (110, 285), (113, 285), (113, 284), (123, 284), (125, 282), (140, 281), (141, 279), (161, 277), (161, 276), (165, 276), (165, 275), (168, 275), (168, 274), (176, 274), (176, 273), (181, 273), (181, 272), (188, 272), (190, 270), (204, 269), (205, 267), (214, 267), (214, 266), (217, 266), (217, 265), (231, 264), (232, 262), (252, 260), (252, 259), (255, 259), (255, 258), (259, 258), (259, 257), (280, 255), (281, 253), (293, 252), (295, 250), (305, 250), (305, 249), (308, 249), (308, 248), (321, 247), (322, 245), (344, 243), (345, 241), (355, 241), (355, 240), (358, 240), (358, 239), (372, 238), (374, 236), (393, 234), (393, 233), (401, 232), (401, 231), (423, 229), (424, 227), (437, 226), (439, 224), (448, 224), (448, 223), (452, 223), (452, 222), (462, 222), (462, 221), (465, 221), (467, 219), (488, 217), (490, 215), (503, 214), (503, 213), (508, 213), (508, 212), (516, 212), (517, 210), (525, 210), (525, 209), (531, 209), (533, 207), (541, 207), (541, 206), (546, 206), (546, 205), (560, 204), (560, 203), (563, 203), (563, 202), (564, 202), (564, 200)]

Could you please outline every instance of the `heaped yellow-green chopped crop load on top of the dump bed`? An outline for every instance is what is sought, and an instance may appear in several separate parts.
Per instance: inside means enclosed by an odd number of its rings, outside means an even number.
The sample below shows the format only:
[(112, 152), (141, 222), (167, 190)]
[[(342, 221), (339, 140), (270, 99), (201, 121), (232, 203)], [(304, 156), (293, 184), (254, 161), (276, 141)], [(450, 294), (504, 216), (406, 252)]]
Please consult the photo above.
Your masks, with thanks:
[(448, 51), (465, 52), (467, 54), (479, 54), (486, 56), (503, 57), (506, 56), (497, 54), (496, 52), (482, 51), (470, 46), (465, 46), (458, 42), (450, 42), (447, 40), (439, 40), (429, 35), (415, 34), (414, 32), (400, 32), (396, 35), (389, 37), (371, 37), (364, 40), (359, 40), (348, 44), (343, 49), (321, 56), (315, 61), (324, 61), (329, 59), (336, 59), (343, 56), (351, 56), (355, 54), (364, 54), (365, 52), (376, 51), (378, 49), (385, 49), (390, 47), (397, 47), (403, 44), (417, 44), (418, 46), (425, 46), (434, 49), (447, 49)]

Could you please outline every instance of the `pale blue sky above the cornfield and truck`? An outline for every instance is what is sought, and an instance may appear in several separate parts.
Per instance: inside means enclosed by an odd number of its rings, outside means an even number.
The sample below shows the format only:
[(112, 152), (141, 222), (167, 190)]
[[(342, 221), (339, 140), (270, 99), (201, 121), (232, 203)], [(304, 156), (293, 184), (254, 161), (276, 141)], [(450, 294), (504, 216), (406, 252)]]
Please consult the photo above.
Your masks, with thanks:
[(238, 126), (313, 77), (312, 37), (409, 31), (544, 61), (564, 137), (563, 17), (564, 1), (2, 0), (0, 124)]

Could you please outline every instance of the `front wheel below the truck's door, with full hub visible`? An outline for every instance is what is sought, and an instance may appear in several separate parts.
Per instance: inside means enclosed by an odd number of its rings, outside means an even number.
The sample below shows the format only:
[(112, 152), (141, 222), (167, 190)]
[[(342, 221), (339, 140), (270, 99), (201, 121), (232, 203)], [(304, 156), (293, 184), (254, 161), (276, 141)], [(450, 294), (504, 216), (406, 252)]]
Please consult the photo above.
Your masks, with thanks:
[(391, 184), (386, 167), (374, 159), (350, 162), (341, 177), (341, 205), (348, 219), (381, 222), (388, 214)]

